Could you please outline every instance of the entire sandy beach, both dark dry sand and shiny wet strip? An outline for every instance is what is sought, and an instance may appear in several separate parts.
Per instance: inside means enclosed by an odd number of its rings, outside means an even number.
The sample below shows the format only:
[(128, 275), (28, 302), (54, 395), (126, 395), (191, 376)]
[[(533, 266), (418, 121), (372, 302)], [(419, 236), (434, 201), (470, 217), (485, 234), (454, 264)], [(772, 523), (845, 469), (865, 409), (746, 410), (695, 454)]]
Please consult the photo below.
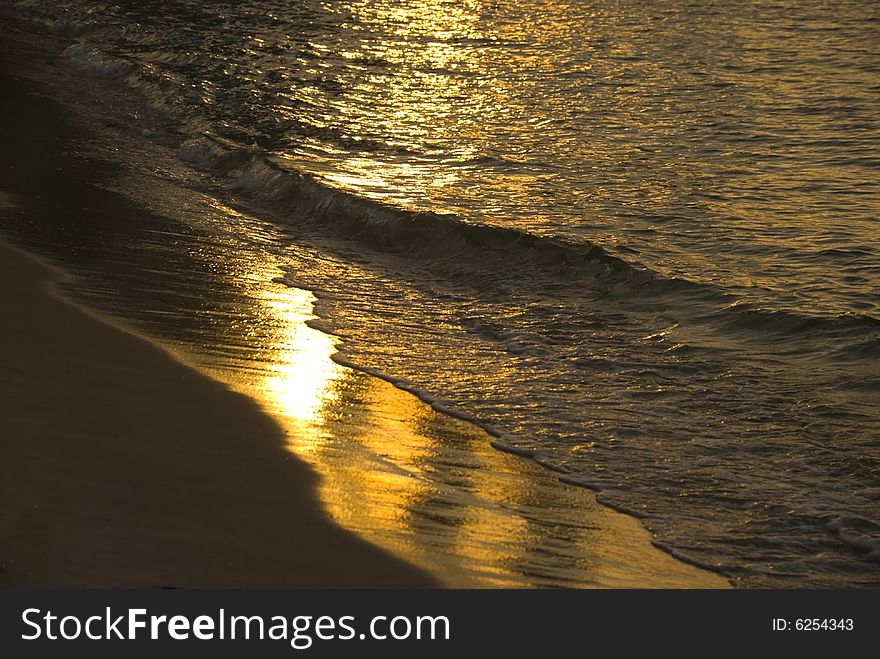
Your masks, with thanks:
[(727, 585), (479, 428), (334, 363), (271, 255), (173, 215), (215, 202), (81, 149), (114, 131), (138, 148), (124, 108), (83, 113), (102, 87), (65, 107), (0, 82), (0, 226), (72, 275), (61, 301), (51, 269), (0, 255), (0, 587)]

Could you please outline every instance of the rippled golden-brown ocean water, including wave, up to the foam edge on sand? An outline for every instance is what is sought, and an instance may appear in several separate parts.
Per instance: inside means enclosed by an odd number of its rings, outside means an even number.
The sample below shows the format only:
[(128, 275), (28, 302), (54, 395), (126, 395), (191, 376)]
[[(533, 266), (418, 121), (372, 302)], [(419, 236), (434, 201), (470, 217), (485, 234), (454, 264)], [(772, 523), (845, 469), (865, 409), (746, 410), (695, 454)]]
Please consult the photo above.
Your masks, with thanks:
[(337, 361), (740, 584), (880, 584), (875, 3), (13, 6)]

